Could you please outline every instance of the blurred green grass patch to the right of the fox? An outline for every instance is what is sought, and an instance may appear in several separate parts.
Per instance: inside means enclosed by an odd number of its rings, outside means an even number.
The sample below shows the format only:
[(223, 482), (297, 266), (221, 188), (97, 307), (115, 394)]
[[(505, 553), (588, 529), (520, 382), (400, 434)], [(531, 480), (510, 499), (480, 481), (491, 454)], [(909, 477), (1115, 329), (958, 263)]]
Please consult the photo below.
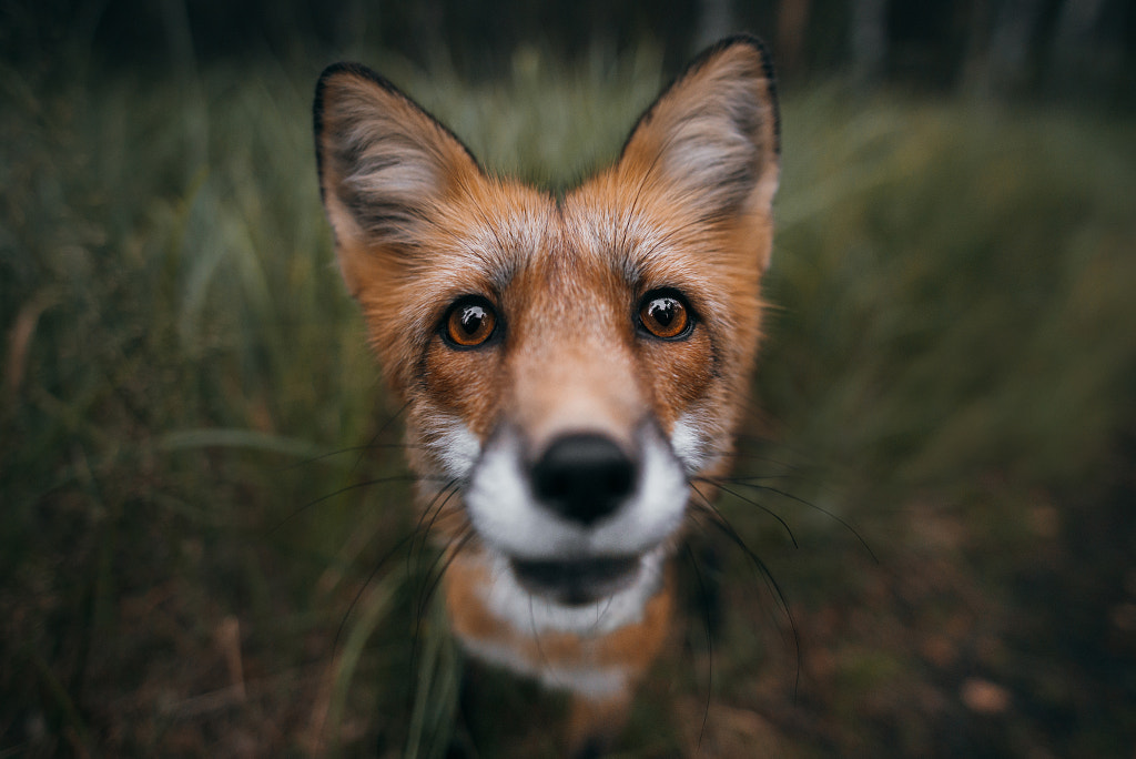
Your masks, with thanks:
[(813, 350), (775, 345), (766, 397), (794, 368), (825, 404), (809, 448), (904, 484), (1102, 476), (1136, 386), (1126, 126), (836, 102), (786, 119), (772, 300)]

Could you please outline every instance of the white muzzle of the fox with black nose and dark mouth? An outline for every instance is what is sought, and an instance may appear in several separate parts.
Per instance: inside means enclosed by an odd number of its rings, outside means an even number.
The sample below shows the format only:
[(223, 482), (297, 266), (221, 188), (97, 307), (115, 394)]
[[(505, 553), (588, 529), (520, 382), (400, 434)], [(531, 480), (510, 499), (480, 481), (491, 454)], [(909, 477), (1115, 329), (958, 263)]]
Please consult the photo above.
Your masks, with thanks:
[(518, 584), (580, 606), (642, 582), (644, 558), (666, 551), (690, 494), (657, 426), (641, 425), (629, 443), (569, 431), (532, 452), (523, 440), (517, 429), (495, 434), (466, 497), (478, 536)]

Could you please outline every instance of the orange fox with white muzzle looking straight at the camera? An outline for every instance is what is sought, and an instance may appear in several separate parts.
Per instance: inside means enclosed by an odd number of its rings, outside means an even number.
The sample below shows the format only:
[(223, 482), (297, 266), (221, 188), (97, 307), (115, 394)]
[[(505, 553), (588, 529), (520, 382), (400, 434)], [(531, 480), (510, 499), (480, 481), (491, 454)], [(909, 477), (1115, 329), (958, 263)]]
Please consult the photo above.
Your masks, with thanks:
[(728, 472), (755, 370), (780, 170), (770, 56), (747, 34), (711, 45), (611, 166), (556, 192), (485, 169), (360, 64), (323, 72), (314, 123), (452, 634), (566, 691), (566, 753), (599, 756), (670, 635), (674, 557)]

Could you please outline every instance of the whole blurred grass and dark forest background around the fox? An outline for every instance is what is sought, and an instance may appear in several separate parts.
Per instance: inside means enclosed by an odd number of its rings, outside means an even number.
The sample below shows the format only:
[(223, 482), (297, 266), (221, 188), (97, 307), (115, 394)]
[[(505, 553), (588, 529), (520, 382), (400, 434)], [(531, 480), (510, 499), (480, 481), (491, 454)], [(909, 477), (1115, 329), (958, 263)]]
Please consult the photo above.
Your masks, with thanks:
[(1128, 0), (0, 5), (0, 756), (558, 756), (528, 684), (459, 714), (310, 98), (361, 60), (561, 186), (737, 30), (747, 548), (692, 528), (619, 756), (1136, 756)]

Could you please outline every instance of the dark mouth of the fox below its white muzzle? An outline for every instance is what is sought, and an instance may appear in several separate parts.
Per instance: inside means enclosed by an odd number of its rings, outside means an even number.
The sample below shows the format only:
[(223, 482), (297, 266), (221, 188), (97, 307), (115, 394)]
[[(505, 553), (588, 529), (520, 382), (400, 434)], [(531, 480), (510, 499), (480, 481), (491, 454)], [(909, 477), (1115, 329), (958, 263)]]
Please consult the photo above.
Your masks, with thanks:
[(543, 561), (511, 559), (517, 581), (529, 593), (566, 606), (594, 603), (624, 590), (638, 574), (637, 556)]

